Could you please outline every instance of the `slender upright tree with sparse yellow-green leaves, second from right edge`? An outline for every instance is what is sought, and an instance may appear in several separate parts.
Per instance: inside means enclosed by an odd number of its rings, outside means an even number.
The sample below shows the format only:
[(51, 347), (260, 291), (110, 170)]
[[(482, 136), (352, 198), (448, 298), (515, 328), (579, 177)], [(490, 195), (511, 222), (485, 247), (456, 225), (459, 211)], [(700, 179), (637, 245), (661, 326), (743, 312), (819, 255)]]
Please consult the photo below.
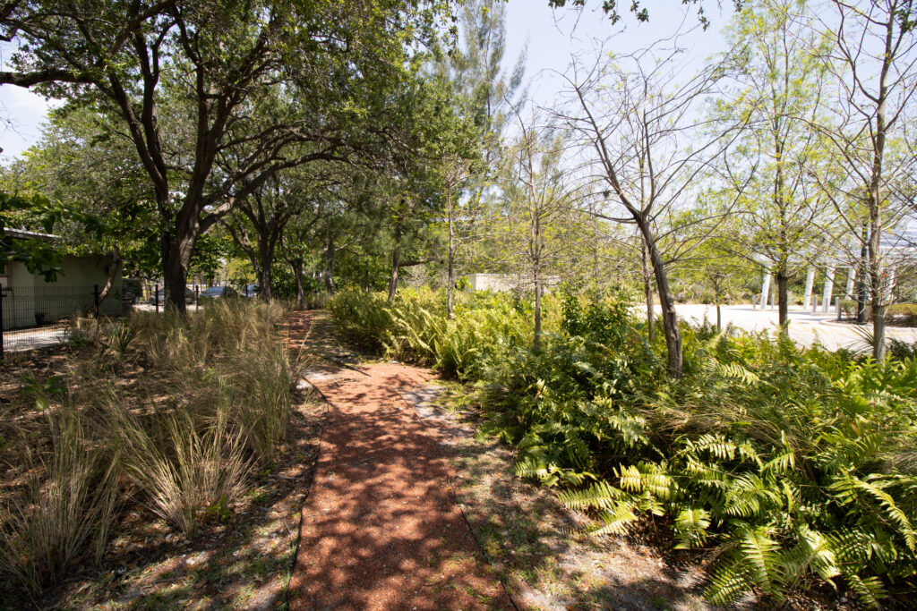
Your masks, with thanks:
[(777, 280), (779, 323), (788, 322), (787, 286), (823, 252), (831, 205), (809, 174), (823, 163), (824, 142), (811, 128), (823, 114), (824, 38), (812, 29), (805, 0), (756, 0), (726, 30), (738, 89), (716, 104), (724, 121), (747, 125), (724, 173), (745, 191), (736, 236)]

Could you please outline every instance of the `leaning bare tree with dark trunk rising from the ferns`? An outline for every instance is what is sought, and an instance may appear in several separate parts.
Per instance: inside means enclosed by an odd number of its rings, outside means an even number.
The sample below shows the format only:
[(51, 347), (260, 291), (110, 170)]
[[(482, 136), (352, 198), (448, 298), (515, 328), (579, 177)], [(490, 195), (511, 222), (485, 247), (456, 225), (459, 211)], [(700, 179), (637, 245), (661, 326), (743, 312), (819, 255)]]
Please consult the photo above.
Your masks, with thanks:
[(593, 197), (601, 198), (590, 213), (639, 230), (656, 279), (672, 377), (682, 374), (681, 332), (668, 283), (671, 261), (658, 236), (673, 235), (662, 222), (676, 206), (690, 205), (694, 180), (710, 171), (737, 133), (714, 131), (710, 121), (696, 118), (722, 71), (708, 67), (679, 84), (678, 54), (650, 48), (591, 70), (574, 61), (569, 104), (558, 111), (577, 135)]

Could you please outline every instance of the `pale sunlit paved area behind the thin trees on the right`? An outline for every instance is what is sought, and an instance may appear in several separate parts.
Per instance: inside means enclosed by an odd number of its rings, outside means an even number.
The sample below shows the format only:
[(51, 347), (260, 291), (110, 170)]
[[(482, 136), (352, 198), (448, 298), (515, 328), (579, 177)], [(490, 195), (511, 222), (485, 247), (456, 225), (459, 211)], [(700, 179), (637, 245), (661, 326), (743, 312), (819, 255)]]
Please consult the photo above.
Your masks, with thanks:
[[(657, 306), (658, 309), (658, 306)], [(716, 322), (716, 308), (712, 305), (680, 304), (676, 306), (679, 316), (686, 321)], [(746, 331), (777, 331), (778, 312), (774, 310), (752, 310), (750, 305), (723, 306), (723, 324), (732, 324)], [(811, 346), (818, 342), (828, 350), (850, 348), (867, 350), (868, 344), (857, 332), (871, 332), (872, 325), (857, 327), (855, 324), (835, 322), (836, 314), (813, 314), (811, 310), (790, 308), (790, 337), (797, 344)], [(917, 329), (887, 327), (886, 336), (911, 344), (917, 343)]]

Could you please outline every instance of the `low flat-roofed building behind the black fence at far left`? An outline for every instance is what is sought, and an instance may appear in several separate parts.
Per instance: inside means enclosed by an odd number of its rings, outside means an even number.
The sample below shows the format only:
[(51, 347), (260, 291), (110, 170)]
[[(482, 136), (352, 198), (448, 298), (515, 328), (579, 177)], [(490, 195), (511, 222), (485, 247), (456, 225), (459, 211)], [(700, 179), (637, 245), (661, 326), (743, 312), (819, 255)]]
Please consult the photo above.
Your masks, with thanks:
[[(56, 235), (5, 228), (6, 237), (15, 240), (53, 242)], [(63, 256), (61, 271), (54, 282), (33, 274), (25, 264), (7, 263), (0, 267), (0, 294), (3, 296), (3, 328), (18, 329), (59, 321), (94, 307), (95, 290), (108, 281), (110, 256)], [(121, 312), (121, 274), (112, 285), (111, 296), (100, 306), (106, 314)]]

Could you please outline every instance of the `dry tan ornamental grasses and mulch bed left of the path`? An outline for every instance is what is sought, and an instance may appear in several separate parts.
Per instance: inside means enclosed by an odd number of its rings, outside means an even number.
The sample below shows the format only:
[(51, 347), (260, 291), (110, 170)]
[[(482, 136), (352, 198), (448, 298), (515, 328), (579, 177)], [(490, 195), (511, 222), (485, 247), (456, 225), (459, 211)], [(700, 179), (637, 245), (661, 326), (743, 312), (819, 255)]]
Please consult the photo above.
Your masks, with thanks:
[(38, 604), (138, 530), (152, 529), (140, 539), (159, 539), (154, 548), (193, 545), (200, 529), (214, 536), (270, 496), (271, 474), (293, 457), (288, 425), (302, 418), (279, 331), (286, 313), (227, 300), (188, 317), (80, 321), (53, 366), (14, 374), (0, 480), (6, 604)]

